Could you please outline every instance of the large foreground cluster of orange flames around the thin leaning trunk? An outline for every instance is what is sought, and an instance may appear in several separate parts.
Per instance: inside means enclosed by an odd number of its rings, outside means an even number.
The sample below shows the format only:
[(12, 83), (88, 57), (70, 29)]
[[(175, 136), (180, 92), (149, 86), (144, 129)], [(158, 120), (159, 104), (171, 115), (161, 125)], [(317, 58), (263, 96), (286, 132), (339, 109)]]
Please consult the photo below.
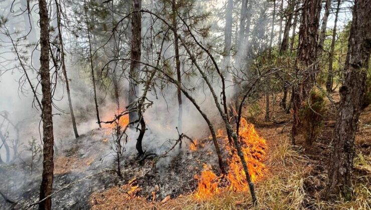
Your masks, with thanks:
[[(237, 152), (228, 142), (228, 138), (223, 135), (221, 130), (218, 130), (218, 137), (224, 136), (225, 148), (229, 151), (231, 157), (228, 159), (229, 171), (226, 178), (229, 180), (230, 185), (228, 189), (234, 191), (247, 191), (249, 185), (246, 180), (246, 174), (243, 169), (241, 159)], [(265, 165), (262, 160), (266, 154), (267, 144), (265, 139), (260, 137), (255, 130), (253, 124), (249, 124), (246, 119), (241, 119), (239, 130), (239, 142), (244, 154), (245, 161), (252, 181), (256, 181), (264, 176), (266, 171)], [(199, 180), (199, 187), (196, 192), (197, 198), (210, 197), (218, 192), (218, 184), (220, 177), (211, 171), (211, 167), (204, 165), (204, 171), (200, 176), (195, 176)]]

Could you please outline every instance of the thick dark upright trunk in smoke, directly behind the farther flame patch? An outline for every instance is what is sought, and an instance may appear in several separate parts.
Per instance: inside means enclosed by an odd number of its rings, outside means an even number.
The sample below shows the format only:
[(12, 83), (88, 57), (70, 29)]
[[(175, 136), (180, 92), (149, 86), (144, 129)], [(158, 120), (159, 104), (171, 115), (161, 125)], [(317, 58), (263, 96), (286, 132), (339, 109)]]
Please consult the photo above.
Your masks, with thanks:
[[(141, 0), (133, 0), (133, 11), (138, 11), (141, 9)], [(130, 62), (130, 80), (129, 80), (129, 98), (128, 103), (129, 105), (135, 104), (135, 100), (137, 99), (136, 94), (139, 91), (138, 88), (138, 77), (140, 71), (140, 42), (141, 42), (141, 13), (140, 12), (133, 12), (131, 14), (131, 62)], [(129, 113), (129, 121), (138, 120), (138, 113), (130, 112)], [(140, 145), (141, 147), (141, 145)], [(139, 152), (139, 150), (138, 150)]]

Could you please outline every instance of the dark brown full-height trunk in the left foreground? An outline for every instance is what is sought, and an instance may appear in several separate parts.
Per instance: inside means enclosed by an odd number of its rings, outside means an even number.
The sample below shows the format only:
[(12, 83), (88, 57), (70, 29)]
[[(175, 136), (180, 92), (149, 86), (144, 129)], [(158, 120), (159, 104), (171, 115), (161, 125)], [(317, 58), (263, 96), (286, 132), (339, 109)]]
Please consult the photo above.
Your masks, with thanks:
[[(40, 185), (40, 200), (52, 193), (54, 171), (54, 135), (52, 114), (52, 91), (49, 73), (49, 17), (47, 3), (39, 0), (40, 15), (40, 79), (43, 98), (43, 174)], [(49, 197), (39, 203), (39, 209), (51, 209), (52, 198)]]

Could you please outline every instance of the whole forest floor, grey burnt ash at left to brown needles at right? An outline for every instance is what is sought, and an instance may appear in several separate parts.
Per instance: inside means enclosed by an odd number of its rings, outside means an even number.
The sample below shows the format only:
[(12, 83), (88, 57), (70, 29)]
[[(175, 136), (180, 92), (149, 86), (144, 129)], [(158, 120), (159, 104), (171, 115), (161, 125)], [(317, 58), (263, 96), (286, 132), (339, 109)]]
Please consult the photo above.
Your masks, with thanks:
[[(333, 93), (335, 101), (338, 93)], [(296, 138), (297, 146), (290, 145), (291, 114), (279, 106), (280, 95), (271, 97), (270, 120), (265, 121), (265, 101), (244, 107), (244, 116), (255, 124), (258, 134), (266, 140), (268, 150), (263, 160), (264, 177), (255, 182), (261, 209), (370, 209), (371, 203), (371, 106), (359, 118), (355, 138), (354, 191), (351, 201), (324, 201), (322, 192), (326, 184), (330, 141), (335, 126), (335, 105), (327, 101), (327, 115), (323, 128), (311, 147), (301, 146), (303, 135)], [(222, 123), (220, 123), (222, 128)], [(125, 152), (123, 177), (112, 170), (109, 158), (111, 133), (108, 129), (92, 130), (77, 140), (60, 146), (55, 159), (54, 209), (247, 209), (252, 208), (248, 191), (235, 192), (220, 186), (214, 196), (199, 199), (195, 196), (197, 180), (203, 163), (217, 168), (214, 147), (204, 139), (204, 146), (190, 151), (190, 143), (173, 152), (163, 162), (152, 167), (152, 160), (136, 161), (135, 150)], [(148, 131), (150, 132), (150, 131)], [(208, 136), (206, 133), (205, 136)], [(156, 137), (156, 136), (154, 136)], [(145, 144), (145, 142), (143, 142)], [(146, 146), (146, 145), (144, 145)], [(147, 145), (148, 148), (148, 145)], [(227, 155), (224, 153), (224, 155)], [(21, 169), (22, 168), (22, 169)], [(24, 174), (12, 176), (14, 171)], [(103, 171), (103, 172), (102, 172)], [(0, 208), (24, 209), (38, 199), (40, 171), (30, 176), (30, 168), (12, 165), (0, 170), (6, 177), (10, 198), (17, 203), (0, 203)], [(20, 183), (20, 180), (22, 182)], [(222, 184), (223, 185), (223, 184)], [(19, 193), (22, 191), (22, 193)], [(34, 205), (36, 208), (37, 205)]]

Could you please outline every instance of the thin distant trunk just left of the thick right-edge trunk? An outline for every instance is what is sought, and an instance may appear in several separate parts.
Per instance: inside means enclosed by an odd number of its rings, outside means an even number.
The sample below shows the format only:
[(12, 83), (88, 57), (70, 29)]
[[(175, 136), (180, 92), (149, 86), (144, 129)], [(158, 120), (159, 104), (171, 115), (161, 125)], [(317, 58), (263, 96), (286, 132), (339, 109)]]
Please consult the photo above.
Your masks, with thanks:
[(327, 79), (326, 79), (326, 90), (327, 92), (332, 91), (332, 62), (333, 62), (333, 55), (335, 50), (335, 41), (336, 41), (336, 25), (337, 25), (337, 18), (339, 15), (339, 9), (340, 9), (341, 0), (337, 0), (337, 6), (335, 11), (335, 20), (334, 25), (332, 29), (332, 40), (331, 40), (331, 47), (330, 47), (330, 54), (328, 55), (328, 73), (327, 73)]

